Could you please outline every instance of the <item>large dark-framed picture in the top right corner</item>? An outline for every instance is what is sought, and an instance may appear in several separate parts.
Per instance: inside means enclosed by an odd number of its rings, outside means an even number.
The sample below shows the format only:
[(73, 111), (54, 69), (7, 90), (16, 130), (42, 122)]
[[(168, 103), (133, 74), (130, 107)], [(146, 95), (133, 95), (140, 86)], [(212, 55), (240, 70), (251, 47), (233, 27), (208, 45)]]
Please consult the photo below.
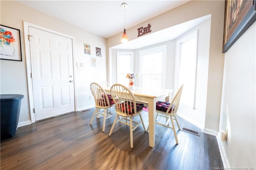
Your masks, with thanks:
[(255, 3), (256, 0), (225, 0), (222, 53), (228, 51), (256, 20)]

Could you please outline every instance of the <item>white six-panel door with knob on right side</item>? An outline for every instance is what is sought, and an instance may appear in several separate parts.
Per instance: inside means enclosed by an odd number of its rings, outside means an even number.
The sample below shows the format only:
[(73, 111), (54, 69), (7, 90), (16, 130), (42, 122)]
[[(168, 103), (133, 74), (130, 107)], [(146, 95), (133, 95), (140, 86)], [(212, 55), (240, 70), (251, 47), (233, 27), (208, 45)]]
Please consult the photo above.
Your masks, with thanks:
[(29, 27), (36, 121), (75, 110), (72, 39)]

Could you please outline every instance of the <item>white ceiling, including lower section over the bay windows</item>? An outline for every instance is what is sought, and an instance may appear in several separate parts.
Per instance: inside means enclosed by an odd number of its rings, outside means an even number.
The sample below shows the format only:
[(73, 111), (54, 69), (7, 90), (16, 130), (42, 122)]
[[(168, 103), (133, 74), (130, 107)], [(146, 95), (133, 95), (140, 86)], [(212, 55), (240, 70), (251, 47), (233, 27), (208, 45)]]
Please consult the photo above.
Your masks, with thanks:
[[(131, 28), (188, 1), (190, 0), (19, 0), (18, 2), (98, 36), (109, 38), (122, 32), (124, 24), (126, 29)], [(128, 8), (125, 10), (125, 23), (124, 8), (122, 8), (124, 2), (128, 4)], [(148, 36), (142, 36), (142, 38), (120, 44), (115, 48), (137, 49), (172, 40), (203, 20), (205, 18), (184, 23), (185, 26), (180, 24)], [(176, 34), (166, 34), (167, 32)], [(161, 36), (162, 34), (165, 36)], [(140, 43), (140, 40), (143, 39), (147, 42), (144, 45)]]

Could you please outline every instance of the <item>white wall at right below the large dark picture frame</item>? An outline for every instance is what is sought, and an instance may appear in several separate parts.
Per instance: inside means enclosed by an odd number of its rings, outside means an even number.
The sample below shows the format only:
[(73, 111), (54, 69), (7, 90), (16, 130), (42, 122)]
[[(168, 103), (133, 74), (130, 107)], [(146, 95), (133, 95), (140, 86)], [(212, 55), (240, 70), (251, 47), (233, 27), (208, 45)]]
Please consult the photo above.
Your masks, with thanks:
[(220, 144), (227, 167), (256, 168), (255, 107), (256, 22), (225, 53), (220, 131), (227, 127), (228, 138)]

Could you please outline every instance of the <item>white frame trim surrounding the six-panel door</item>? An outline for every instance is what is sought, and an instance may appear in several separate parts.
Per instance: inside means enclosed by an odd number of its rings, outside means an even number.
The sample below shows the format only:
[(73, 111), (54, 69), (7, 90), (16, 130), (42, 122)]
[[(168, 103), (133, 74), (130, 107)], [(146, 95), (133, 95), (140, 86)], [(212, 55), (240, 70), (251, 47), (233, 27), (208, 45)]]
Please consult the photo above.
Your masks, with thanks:
[(29, 22), (23, 21), (23, 28), (24, 28), (24, 43), (25, 43), (25, 53), (26, 53), (26, 68), (27, 68), (27, 83), (28, 83), (28, 100), (29, 100), (29, 110), (30, 110), (30, 118), (31, 118), (31, 123), (36, 122), (35, 114), (34, 114), (34, 98), (33, 98), (33, 88), (32, 88), (32, 78), (31, 78), (31, 61), (30, 61), (30, 45), (29, 45), (29, 34), (28, 34), (28, 27), (34, 27), (46, 32), (50, 32), (53, 34), (57, 34), (60, 36), (64, 36), (67, 38), (72, 39), (72, 55), (73, 55), (73, 71), (74, 71), (74, 99), (75, 99), (75, 111), (77, 111), (77, 103), (76, 103), (76, 69), (75, 68), (75, 52), (74, 52), (74, 37), (62, 34), (60, 32), (56, 32), (54, 30), (50, 30), (48, 28), (44, 28), (35, 24), (31, 24)]

